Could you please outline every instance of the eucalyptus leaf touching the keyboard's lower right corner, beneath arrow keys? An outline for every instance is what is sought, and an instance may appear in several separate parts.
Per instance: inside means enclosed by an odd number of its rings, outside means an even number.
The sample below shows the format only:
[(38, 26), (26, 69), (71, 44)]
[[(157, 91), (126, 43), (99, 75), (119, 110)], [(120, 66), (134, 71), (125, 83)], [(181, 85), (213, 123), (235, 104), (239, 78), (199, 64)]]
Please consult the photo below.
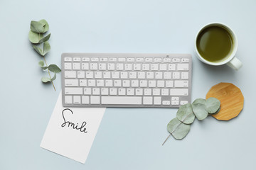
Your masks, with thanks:
[(195, 115), (193, 114), (191, 103), (187, 103), (178, 109), (177, 118), (185, 124), (193, 123)]

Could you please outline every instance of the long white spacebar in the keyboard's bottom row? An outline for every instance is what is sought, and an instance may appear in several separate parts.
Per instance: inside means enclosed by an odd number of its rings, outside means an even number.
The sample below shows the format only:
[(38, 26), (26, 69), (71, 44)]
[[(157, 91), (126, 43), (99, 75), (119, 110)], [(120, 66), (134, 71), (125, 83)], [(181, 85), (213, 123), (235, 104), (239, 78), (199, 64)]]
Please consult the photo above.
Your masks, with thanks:
[(142, 104), (142, 97), (133, 96), (102, 96), (102, 104), (127, 104), (140, 105)]

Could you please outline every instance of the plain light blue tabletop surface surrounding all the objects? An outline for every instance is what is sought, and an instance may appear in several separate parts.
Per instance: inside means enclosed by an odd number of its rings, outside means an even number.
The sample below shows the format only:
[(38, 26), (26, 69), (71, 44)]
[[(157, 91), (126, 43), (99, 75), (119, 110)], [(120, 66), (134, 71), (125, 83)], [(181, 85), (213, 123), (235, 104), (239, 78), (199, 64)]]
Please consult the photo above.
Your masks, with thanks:
[[(256, 1), (75, 0), (0, 1), (0, 169), (256, 169)], [(166, 124), (177, 109), (107, 108), (85, 164), (39, 147), (61, 90), (28, 41), (31, 20), (45, 18), (52, 33), (46, 61), (60, 66), (62, 52), (149, 52), (193, 55), (192, 101), (211, 86), (230, 82), (245, 96), (242, 113), (228, 122), (208, 117), (183, 140)], [(238, 35), (238, 72), (210, 67), (194, 54), (197, 31), (226, 23)]]

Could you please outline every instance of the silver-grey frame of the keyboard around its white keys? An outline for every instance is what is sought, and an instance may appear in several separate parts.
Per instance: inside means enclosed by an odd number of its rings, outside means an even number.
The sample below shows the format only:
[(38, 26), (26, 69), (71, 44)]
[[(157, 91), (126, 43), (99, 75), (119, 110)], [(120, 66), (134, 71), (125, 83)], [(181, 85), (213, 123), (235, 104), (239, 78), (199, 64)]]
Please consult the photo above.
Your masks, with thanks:
[[(189, 62), (188, 63), (188, 79), (186, 79), (188, 81), (188, 96), (161, 96), (161, 102), (162, 101), (170, 101), (170, 105), (164, 105), (163, 103), (161, 103), (161, 105), (144, 105), (142, 103), (142, 105), (132, 105), (132, 104), (75, 104), (75, 103), (65, 103), (65, 96), (68, 96), (65, 94), (65, 69), (64, 69), (64, 58), (65, 57), (80, 57), (81, 58), (81, 62), (82, 63), (82, 57), (98, 57), (99, 59), (100, 58), (110, 58), (110, 57), (114, 57), (114, 58), (140, 58), (140, 57), (144, 57), (144, 58), (153, 58), (153, 63), (154, 63), (154, 57), (156, 58), (171, 58), (171, 62), (162, 62), (162, 63), (166, 63), (166, 64), (170, 64), (170, 63), (173, 63), (175, 62), (173, 59), (174, 58), (177, 58), (177, 59), (180, 59), (180, 60), (183, 60), (183, 59), (188, 59)], [(117, 60), (118, 61), (118, 60)], [(76, 62), (76, 61), (73, 61), (72, 60), (72, 63), (73, 62)], [(100, 63), (100, 60), (99, 62)], [(108, 63), (108, 62), (107, 62)], [(122, 63), (129, 63), (129, 62), (122, 62)], [(143, 63), (146, 63), (145, 61), (142, 62)], [(177, 63), (177, 62), (176, 62)], [(181, 62), (180, 62), (181, 63)], [(61, 77), (62, 77), (62, 98), (63, 98), (63, 106), (64, 107), (91, 107), (91, 108), (97, 108), (97, 107), (124, 107), (124, 108), (179, 108), (181, 106), (181, 101), (187, 101), (188, 103), (191, 103), (191, 86), (192, 86), (192, 57), (191, 55), (189, 54), (142, 54), (142, 53), (139, 53), (139, 54), (135, 54), (135, 53), (63, 53), (62, 56), (61, 56), (61, 66), (62, 66), (62, 73), (61, 73)], [(82, 69), (78, 70), (78, 71), (82, 71)], [(97, 70), (99, 71), (99, 70)], [(100, 70), (102, 72), (104, 72), (103, 70)], [(168, 71), (168, 70), (167, 70)], [(129, 71), (128, 71), (129, 72)], [(139, 71), (131, 71), (131, 72), (139, 72)], [(146, 71), (142, 71), (142, 72), (146, 72)], [(150, 71), (150, 72), (159, 72), (158, 71)], [(170, 71), (169, 71), (170, 72)], [(179, 71), (179, 70), (176, 70), (175, 72), (184, 72), (184, 71)], [(78, 79), (78, 78), (76, 78)], [(85, 78), (86, 79), (86, 78)], [(154, 79), (156, 80), (156, 79)], [(160, 79), (161, 80), (161, 79)], [(164, 79), (163, 79), (164, 80)], [(171, 77), (171, 80), (174, 80), (172, 77)], [(93, 88), (93, 87), (92, 87)], [(117, 87), (118, 88), (118, 87)], [(121, 87), (122, 88), (122, 87)], [(137, 87), (137, 88), (141, 88), (141, 87)], [(143, 88), (143, 87), (142, 87)], [(136, 88), (134, 88), (136, 89)], [(144, 88), (143, 88), (144, 89)], [(172, 89), (176, 89), (175, 87), (172, 88)], [(83, 91), (83, 90), (82, 90)], [(82, 95), (78, 95), (78, 96), (82, 96)], [(93, 95), (91, 95), (93, 96)], [(101, 95), (100, 95), (101, 96)], [(110, 96), (110, 95), (107, 95), (107, 96)], [(127, 96), (127, 95), (126, 95)], [(135, 96), (135, 95), (134, 95)], [(142, 95), (143, 97), (144, 95)], [(153, 95), (152, 95), (153, 96)], [(178, 101), (178, 104), (176, 103), (175, 105), (172, 105), (172, 97), (178, 97), (179, 98), (179, 101)], [(154, 103), (154, 100), (153, 100), (153, 103)]]

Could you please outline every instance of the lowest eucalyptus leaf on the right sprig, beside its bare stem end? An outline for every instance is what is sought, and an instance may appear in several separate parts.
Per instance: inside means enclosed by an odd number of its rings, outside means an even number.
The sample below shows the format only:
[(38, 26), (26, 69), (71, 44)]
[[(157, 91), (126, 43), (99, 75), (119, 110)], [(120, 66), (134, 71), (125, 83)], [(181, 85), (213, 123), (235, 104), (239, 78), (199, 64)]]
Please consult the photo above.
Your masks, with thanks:
[(178, 120), (178, 118), (174, 118), (168, 123), (167, 130), (176, 140), (182, 140), (188, 134), (190, 125), (186, 125)]

